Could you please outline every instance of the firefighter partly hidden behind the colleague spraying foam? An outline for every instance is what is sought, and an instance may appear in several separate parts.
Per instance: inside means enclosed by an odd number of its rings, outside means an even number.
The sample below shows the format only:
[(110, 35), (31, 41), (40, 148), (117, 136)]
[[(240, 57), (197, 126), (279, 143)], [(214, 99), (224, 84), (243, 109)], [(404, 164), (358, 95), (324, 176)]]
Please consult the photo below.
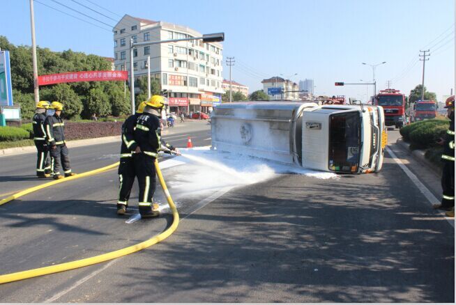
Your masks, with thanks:
[(135, 182), (135, 166), (132, 161), (132, 151), (137, 148), (137, 143), (133, 137), (137, 117), (142, 114), (146, 102), (139, 104), (136, 114), (129, 116), (122, 125), (121, 135), (121, 161), (119, 164), (119, 201), (117, 201), (117, 214), (123, 215), (127, 212), (128, 198)]

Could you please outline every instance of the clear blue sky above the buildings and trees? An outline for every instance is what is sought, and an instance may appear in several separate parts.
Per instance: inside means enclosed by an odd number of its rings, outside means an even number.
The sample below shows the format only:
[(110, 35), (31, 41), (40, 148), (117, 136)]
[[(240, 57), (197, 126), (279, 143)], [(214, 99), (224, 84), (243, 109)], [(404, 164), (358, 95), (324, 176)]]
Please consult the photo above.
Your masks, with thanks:
[[(42, 3), (77, 15), (52, 0)], [(71, 0), (56, 0), (87, 15), (114, 25)], [(234, 80), (262, 88), (261, 79), (294, 75), (293, 81), (312, 78), (316, 93), (346, 95), (365, 100), (367, 86), (334, 86), (335, 81), (372, 81), (376, 70), (377, 89), (392, 88), (409, 93), (421, 84), (423, 63), (420, 49), (430, 49), (425, 86), (449, 95), (455, 87), (455, 7), (453, 0), (77, 0), (113, 19), (135, 17), (190, 26), (201, 33), (225, 32), (224, 56), (234, 56)], [(107, 8), (109, 13), (100, 7)], [(3, 0), (0, 35), (16, 45), (31, 45), (28, 0)], [(114, 56), (110, 31), (86, 24), (35, 3), (36, 40), (54, 51), (75, 51)], [(108, 28), (109, 29), (109, 28)], [(228, 68), (224, 67), (228, 78)]]

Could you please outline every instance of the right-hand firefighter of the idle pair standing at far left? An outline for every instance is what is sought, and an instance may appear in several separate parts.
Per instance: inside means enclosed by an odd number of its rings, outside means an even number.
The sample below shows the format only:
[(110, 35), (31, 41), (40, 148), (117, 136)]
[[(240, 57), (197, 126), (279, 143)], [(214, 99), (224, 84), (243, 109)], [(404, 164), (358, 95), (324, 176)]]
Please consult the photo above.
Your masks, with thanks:
[(70, 157), (68, 157), (65, 141), (65, 123), (60, 116), (63, 105), (60, 102), (52, 102), (50, 109), (54, 109), (55, 113), (46, 118), (46, 134), (51, 154), (51, 175), (58, 180), (63, 179), (63, 175), (60, 174), (60, 166), (63, 167), (65, 177), (75, 175), (75, 173), (71, 172)]

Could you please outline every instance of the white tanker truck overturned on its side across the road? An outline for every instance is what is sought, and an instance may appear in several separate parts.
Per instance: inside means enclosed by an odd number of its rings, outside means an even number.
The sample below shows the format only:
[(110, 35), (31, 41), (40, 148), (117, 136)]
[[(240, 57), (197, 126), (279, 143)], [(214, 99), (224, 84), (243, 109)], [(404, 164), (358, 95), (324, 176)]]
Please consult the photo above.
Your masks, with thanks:
[(211, 113), (212, 149), (307, 169), (378, 172), (387, 134), (383, 109), (314, 102), (233, 102)]

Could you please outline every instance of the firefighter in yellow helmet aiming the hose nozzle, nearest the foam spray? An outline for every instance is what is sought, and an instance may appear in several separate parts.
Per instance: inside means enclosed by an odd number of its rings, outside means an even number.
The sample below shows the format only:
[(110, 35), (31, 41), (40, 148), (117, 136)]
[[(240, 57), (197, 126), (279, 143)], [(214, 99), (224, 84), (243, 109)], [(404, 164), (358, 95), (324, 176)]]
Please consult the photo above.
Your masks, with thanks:
[[(161, 140), (160, 111), (165, 105), (165, 99), (153, 95), (146, 102), (144, 112), (137, 117), (134, 128), (134, 140), (137, 143), (133, 153), (133, 162), (139, 184), (139, 213), (142, 218), (160, 215), (158, 204), (152, 202), (155, 192), (155, 159), (158, 151), (164, 145), (167, 150), (179, 155), (177, 148)], [(163, 144), (164, 143), (164, 144)]]

